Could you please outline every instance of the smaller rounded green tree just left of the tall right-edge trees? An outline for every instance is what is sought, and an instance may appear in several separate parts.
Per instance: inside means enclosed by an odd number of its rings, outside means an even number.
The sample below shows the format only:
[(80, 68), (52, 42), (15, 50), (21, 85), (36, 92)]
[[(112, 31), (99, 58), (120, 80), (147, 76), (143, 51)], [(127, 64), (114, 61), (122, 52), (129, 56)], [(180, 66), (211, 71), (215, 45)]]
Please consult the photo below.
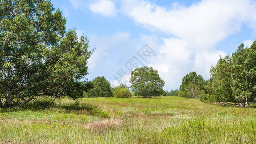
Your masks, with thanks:
[(201, 75), (197, 75), (196, 72), (190, 72), (183, 77), (180, 91), (184, 93), (178, 94), (178, 96), (200, 98), (204, 94), (205, 85), (206, 81)]

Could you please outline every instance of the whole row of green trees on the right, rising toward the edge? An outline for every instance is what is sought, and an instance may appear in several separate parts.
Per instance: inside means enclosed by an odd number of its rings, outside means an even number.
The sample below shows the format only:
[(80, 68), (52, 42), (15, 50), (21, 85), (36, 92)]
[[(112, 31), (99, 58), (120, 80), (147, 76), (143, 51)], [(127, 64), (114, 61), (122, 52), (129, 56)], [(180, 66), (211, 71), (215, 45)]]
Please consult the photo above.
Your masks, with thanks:
[(182, 79), (178, 96), (201, 98), (205, 102), (226, 102), (242, 107), (256, 102), (256, 41), (244, 48), (242, 43), (231, 56), (220, 58), (205, 81), (196, 72)]

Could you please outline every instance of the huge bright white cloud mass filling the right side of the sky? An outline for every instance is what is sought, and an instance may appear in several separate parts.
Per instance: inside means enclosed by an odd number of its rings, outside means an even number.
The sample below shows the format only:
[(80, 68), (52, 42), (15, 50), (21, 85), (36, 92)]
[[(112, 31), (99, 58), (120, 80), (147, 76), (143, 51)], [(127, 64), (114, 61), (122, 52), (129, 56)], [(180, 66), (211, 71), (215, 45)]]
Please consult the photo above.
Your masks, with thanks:
[[(246, 25), (256, 31), (256, 5), (252, 0), (201, 0), (191, 6), (162, 7), (146, 0), (122, 0), (123, 12), (136, 24), (172, 34), (158, 44), (156, 36), (143, 36), (158, 48), (150, 65), (158, 70), (166, 88), (177, 88), (185, 74), (197, 71), (209, 78), (209, 69), (226, 55), (215, 50), (218, 42)], [(146, 40), (149, 39), (149, 40)], [(252, 41), (244, 41), (245, 46)]]

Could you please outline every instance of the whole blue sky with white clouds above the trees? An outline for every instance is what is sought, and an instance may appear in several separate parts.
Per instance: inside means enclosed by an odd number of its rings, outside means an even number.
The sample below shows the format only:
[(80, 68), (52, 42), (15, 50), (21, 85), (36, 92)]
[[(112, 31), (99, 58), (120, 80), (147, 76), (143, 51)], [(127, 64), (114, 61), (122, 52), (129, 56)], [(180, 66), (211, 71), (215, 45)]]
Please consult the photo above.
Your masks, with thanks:
[[(152, 66), (164, 89), (196, 71), (205, 79), (220, 56), (256, 40), (256, 0), (52, 0), (67, 29), (96, 48), (89, 80), (127, 83), (130, 69)], [(146, 45), (146, 46), (145, 46)], [(145, 47), (144, 47), (145, 46)], [(129, 85), (129, 84), (128, 84)]]

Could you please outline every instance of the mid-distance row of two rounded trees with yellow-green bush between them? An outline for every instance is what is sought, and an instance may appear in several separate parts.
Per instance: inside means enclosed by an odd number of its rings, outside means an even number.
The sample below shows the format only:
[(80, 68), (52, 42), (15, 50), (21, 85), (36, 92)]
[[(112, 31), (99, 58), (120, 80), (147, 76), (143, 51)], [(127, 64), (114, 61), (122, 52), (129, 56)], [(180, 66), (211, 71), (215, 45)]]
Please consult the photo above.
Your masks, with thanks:
[[(164, 81), (160, 78), (157, 70), (152, 67), (136, 68), (131, 72), (131, 90), (134, 96), (143, 96), (151, 98), (152, 96), (161, 96)], [(97, 77), (86, 83), (89, 90), (84, 94), (85, 97), (131, 97), (132, 94), (128, 87), (121, 84), (111, 88), (109, 81), (105, 77)]]

